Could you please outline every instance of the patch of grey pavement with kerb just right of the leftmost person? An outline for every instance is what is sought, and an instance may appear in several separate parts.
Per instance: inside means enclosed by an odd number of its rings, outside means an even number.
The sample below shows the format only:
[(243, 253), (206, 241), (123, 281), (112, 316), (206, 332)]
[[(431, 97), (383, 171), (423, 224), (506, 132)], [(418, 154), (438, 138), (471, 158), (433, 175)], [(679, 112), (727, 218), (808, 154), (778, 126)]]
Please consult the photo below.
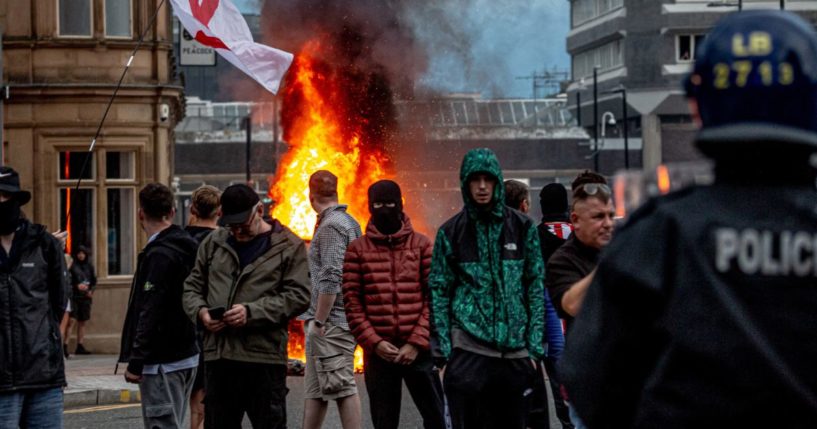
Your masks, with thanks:
[(65, 408), (139, 402), (139, 387), (125, 382), (125, 366), (117, 374), (116, 355), (71, 355), (65, 361)]

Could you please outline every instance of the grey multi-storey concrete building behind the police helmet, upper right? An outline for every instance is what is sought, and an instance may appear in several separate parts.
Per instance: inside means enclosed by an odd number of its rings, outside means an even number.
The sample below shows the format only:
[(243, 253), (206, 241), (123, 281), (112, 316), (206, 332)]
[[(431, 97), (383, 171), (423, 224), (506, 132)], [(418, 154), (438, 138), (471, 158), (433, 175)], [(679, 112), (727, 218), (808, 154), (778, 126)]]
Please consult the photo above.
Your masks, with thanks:
[[(817, 2), (785, 0), (783, 4), (817, 23)], [(624, 134), (622, 90), (626, 91), (628, 134), (630, 141), (643, 144), (645, 168), (698, 159), (692, 144), (695, 126), (682, 89), (696, 46), (718, 19), (739, 7), (780, 6), (780, 0), (570, 0), (568, 108), (591, 137), (597, 123), (596, 132), (601, 134), (604, 123), (612, 137), (606, 140), (617, 146)], [(616, 125), (602, 120), (606, 112)], [(599, 168), (609, 174), (621, 165), (605, 149), (599, 151)]]

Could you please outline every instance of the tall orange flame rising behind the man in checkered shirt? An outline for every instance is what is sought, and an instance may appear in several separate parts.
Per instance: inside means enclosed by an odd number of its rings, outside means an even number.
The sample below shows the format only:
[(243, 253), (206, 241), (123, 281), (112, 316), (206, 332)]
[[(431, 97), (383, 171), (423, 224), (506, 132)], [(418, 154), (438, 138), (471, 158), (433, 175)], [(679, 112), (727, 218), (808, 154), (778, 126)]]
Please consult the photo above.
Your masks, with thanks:
[(366, 145), (365, 119), (344, 113), (342, 84), (332, 82), (329, 72), (319, 70), (309, 56), (318, 48), (315, 42), (307, 45), (290, 71), (294, 76), (284, 104), (295, 100), (297, 118), (287, 125), (289, 150), (278, 165), (269, 192), (275, 201), (272, 216), (307, 240), (317, 220), (309, 203), (312, 173), (329, 170), (338, 177), (338, 199), (349, 205), (348, 213), (358, 221), (369, 216), (369, 185), (391, 176), (385, 152)]

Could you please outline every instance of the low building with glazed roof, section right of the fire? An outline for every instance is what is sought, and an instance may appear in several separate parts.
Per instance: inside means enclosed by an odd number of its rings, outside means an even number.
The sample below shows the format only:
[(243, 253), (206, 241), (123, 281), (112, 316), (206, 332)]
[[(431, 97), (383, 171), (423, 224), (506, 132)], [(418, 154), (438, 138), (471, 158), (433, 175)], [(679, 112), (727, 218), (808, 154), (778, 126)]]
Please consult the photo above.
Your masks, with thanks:
[[(496, 100), (462, 94), (396, 107), (401, 135), (391, 153), (397, 180), (406, 201), (413, 201), (407, 210), (415, 227), (432, 235), (462, 208), (459, 168), (471, 149), (493, 150), (505, 179), (529, 186), (530, 216), (537, 220), (542, 186), (569, 187), (577, 174), (593, 168), (588, 135), (576, 126), (563, 98)], [(624, 159), (623, 150), (608, 152)]]

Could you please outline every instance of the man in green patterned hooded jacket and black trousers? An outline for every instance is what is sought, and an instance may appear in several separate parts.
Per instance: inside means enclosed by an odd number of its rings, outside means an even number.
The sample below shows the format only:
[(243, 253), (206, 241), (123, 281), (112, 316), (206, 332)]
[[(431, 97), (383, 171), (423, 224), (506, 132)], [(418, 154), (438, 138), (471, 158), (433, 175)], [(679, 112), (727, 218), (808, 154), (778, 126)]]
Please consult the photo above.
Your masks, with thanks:
[(443, 385), (455, 429), (524, 428), (544, 355), (544, 268), (536, 225), (503, 204), (489, 149), (460, 168), (463, 210), (440, 227), (429, 276)]

